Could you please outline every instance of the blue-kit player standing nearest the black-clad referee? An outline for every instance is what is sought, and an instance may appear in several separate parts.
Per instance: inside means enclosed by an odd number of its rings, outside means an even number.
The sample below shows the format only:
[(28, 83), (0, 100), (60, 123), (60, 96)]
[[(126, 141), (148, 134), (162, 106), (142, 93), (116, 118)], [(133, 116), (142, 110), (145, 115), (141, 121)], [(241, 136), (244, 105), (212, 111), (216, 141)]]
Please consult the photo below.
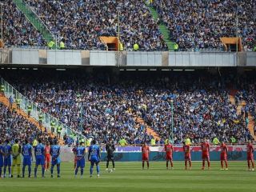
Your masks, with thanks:
[(96, 141), (93, 140), (91, 142), (88, 154), (88, 161), (90, 161), (90, 178), (93, 176), (94, 164), (97, 167), (97, 177), (99, 177), (99, 165), (98, 163), (101, 161), (101, 155), (99, 153), (99, 146), (96, 145)]

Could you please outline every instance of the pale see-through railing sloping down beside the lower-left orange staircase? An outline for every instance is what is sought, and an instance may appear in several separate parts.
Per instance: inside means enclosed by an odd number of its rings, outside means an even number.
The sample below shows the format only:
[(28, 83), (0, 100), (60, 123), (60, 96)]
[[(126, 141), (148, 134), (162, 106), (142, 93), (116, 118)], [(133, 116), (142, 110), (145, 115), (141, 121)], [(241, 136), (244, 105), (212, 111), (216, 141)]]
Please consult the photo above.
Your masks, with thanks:
[(58, 121), (58, 119), (54, 118), (51, 114), (44, 112), (40, 107), (38, 107), (36, 103), (32, 102), (30, 99), (19, 93), (18, 90), (15, 90), (14, 87), (6, 82), (3, 78), (1, 78), (1, 85), (5, 86), (6, 98), (10, 98), (11, 96), (12, 98), (14, 98), (14, 102), (16, 98), (21, 99), (20, 107), (21, 110), (23, 110), (26, 114), (28, 113), (28, 106), (32, 106), (30, 117), (34, 118), (36, 121), (39, 122), (39, 114), (42, 114), (42, 126), (46, 127), (47, 131), (51, 131), (50, 122), (55, 122), (55, 134), (57, 133), (56, 127), (62, 126), (61, 138), (63, 138), (64, 134), (66, 134), (67, 136), (75, 134), (76, 137), (85, 138), (85, 136), (82, 135), (82, 132), (71, 129), (69, 126), (66, 126), (64, 123)]

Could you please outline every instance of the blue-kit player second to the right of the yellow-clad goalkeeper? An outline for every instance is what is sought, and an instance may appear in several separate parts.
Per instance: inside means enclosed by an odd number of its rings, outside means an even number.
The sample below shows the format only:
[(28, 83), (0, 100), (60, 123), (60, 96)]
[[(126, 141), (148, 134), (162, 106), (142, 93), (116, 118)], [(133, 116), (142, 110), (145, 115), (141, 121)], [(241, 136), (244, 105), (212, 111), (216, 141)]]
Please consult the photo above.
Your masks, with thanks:
[(42, 178), (45, 177), (45, 146), (42, 145), (41, 139), (38, 139), (38, 145), (34, 148), (35, 167), (34, 178), (37, 178), (38, 166), (42, 166)]

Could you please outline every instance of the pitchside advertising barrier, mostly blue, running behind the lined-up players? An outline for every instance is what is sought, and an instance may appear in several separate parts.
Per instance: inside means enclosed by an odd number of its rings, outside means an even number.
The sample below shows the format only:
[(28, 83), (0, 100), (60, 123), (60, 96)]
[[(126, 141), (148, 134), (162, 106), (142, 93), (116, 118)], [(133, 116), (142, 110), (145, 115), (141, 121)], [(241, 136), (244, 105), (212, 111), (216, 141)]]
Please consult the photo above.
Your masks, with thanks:
[[(74, 161), (73, 147), (62, 146), (61, 159), (62, 162)], [(88, 149), (87, 149), (88, 150)], [(230, 161), (246, 161), (246, 146), (228, 146), (228, 160)], [(150, 147), (150, 161), (166, 161), (166, 153), (163, 151), (163, 146)], [(220, 160), (220, 147), (210, 146), (210, 160)], [(86, 159), (87, 159), (86, 153)], [(106, 161), (106, 150), (102, 148), (102, 161)], [(192, 161), (201, 161), (202, 152), (200, 146), (191, 146)], [(174, 147), (174, 161), (184, 161), (184, 152), (182, 146)], [(117, 162), (136, 162), (142, 160), (140, 146), (116, 147), (114, 152), (114, 160)]]

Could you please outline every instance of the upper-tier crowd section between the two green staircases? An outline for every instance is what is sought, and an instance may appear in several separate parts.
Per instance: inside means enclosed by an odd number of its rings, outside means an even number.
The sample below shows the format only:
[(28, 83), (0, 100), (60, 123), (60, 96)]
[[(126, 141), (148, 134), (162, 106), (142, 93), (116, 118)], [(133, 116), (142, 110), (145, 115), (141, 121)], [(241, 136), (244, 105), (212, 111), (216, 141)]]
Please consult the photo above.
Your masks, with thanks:
[(99, 37), (118, 36), (119, 12), (120, 39), (126, 50), (132, 50), (135, 43), (140, 50), (166, 50), (158, 25), (142, 0), (26, 2), (70, 49), (105, 49)]

